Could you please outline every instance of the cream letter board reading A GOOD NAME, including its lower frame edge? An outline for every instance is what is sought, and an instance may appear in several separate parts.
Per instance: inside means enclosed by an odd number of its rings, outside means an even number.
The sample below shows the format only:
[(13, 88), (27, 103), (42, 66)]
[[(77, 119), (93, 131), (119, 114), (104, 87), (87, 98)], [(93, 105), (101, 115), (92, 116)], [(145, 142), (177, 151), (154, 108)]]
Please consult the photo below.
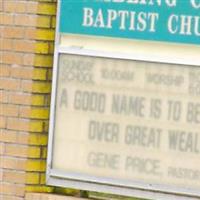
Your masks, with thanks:
[(55, 94), (51, 184), (200, 196), (200, 68), (59, 54)]

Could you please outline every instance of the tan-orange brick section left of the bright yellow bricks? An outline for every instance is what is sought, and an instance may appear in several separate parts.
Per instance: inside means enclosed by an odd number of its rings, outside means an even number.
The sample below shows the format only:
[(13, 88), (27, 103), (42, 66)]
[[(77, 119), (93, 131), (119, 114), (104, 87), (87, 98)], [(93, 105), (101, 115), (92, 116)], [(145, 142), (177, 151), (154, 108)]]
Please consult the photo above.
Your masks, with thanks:
[[(0, 199), (24, 199), (29, 157), (29, 117), (35, 106), (25, 83), (41, 80), (34, 74), (37, 1), (0, 0)], [(44, 21), (44, 19), (42, 20)], [(38, 99), (40, 95), (37, 94)], [(35, 98), (37, 98), (35, 97)], [(36, 104), (37, 105), (37, 104)], [(34, 146), (33, 146), (34, 147)], [(30, 156), (34, 156), (30, 152)]]

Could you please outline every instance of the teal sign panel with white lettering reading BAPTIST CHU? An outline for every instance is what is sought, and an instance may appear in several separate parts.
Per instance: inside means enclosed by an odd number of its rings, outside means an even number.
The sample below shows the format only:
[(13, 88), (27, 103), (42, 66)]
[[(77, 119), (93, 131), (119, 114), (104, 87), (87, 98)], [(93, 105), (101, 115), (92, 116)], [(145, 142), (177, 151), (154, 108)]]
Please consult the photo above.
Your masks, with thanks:
[(61, 0), (60, 32), (200, 44), (200, 0)]

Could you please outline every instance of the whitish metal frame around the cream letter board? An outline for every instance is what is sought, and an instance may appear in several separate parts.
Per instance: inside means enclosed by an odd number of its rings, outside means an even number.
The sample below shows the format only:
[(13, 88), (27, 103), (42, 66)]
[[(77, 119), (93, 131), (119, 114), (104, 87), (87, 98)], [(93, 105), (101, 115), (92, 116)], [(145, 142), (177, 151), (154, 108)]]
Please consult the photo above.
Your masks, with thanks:
[[(60, 0), (58, 0), (57, 16), (60, 16)], [(151, 198), (160, 200), (188, 200), (199, 199), (200, 190), (181, 189), (174, 186), (163, 184), (150, 184), (142, 182), (123, 182), (122, 180), (105, 179), (94, 176), (85, 176), (83, 174), (72, 174), (67, 172), (60, 172), (52, 168), (53, 158), (53, 140), (54, 140), (54, 122), (55, 122), (55, 106), (56, 106), (56, 93), (57, 93), (57, 79), (58, 79), (58, 58), (59, 54), (75, 54), (103, 58), (118, 58), (125, 60), (137, 60), (146, 62), (179, 64), (200, 66), (195, 60), (182, 60), (176, 59), (168, 60), (165, 57), (144, 57), (142, 55), (134, 54), (113, 54), (109, 52), (92, 51), (87, 49), (77, 49), (70, 47), (60, 46), (60, 33), (59, 33), (60, 19), (57, 17), (56, 40), (55, 40), (55, 53), (53, 64), (53, 80), (52, 80), (52, 94), (51, 94), (51, 108), (50, 108), (50, 128), (48, 140), (48, 158), (47, 158), (47, 171), (46, 180), (48, 185), (70, 187), (82, 190), (113, 193), (125, 196), (134, 196), (139, 198)], [(128, 186), (127, 186), (128, 185)]]

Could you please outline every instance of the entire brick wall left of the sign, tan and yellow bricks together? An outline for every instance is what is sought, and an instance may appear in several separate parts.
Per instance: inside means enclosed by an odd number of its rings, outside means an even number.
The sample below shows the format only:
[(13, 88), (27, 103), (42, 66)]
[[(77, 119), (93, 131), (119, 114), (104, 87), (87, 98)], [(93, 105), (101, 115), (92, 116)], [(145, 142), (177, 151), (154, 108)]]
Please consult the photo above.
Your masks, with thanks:
[(45, 185), (55, 0), (0, 0), (0, 199)]

